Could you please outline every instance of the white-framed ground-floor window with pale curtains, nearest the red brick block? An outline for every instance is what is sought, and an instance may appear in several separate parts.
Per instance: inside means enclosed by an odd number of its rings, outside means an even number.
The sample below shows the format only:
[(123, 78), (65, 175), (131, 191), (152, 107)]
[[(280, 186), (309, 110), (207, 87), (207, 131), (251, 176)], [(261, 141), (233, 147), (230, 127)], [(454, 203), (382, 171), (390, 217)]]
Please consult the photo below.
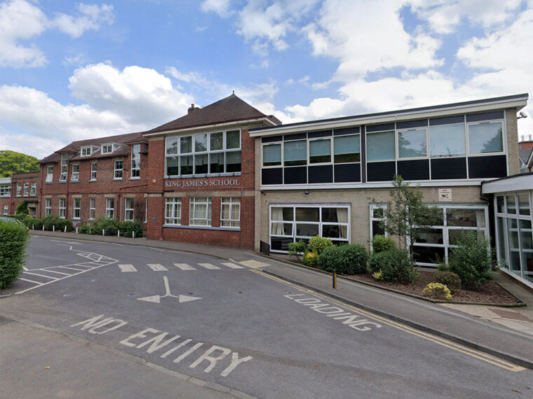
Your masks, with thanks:
[(350, 207), (346, 204), (271, 204), (270, 247), (287, 252), (288, 245), (313, 236), (329, 238), (334, 244), (348, 244)]

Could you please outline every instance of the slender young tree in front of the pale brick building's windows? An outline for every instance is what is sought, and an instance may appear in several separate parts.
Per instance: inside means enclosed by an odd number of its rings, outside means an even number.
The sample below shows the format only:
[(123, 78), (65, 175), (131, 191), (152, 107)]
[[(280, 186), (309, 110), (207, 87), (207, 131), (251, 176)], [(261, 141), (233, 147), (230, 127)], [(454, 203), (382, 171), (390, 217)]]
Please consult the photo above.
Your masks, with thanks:
[(390, 235), (398, 237), (400, 245), (409, 249), (412, 256), (413, 244), (419, 238), (420, 229), (442, 224), (443, 215), (440, 209), (424, 204), (422, 192), (405, 183), (402, 176), (394, 175), (392, 185), (391, 200), (387, 202), (385, 211), (384, 229)]

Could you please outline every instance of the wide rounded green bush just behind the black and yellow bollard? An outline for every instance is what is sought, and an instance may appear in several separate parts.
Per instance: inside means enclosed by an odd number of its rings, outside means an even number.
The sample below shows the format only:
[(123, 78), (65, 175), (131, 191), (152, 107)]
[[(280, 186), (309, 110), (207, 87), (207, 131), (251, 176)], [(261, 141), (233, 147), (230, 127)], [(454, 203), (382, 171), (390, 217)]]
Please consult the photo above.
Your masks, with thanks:
[(326, 272), (337, 270), (339, 274), (364, 273), (367, 269), (368, 252), (361, 244), (330, 246), (318, 255), (318, 265)]

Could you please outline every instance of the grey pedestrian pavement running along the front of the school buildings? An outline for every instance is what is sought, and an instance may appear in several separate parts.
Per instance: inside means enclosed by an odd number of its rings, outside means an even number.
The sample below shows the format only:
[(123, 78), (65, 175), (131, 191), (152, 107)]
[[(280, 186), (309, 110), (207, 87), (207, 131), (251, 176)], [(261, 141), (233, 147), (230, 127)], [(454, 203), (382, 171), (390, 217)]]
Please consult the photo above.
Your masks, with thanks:
[(74, 232), (34, 230), (32, 234), (55, 237), (56, 239), (81, 239), (166, 248), (210, 255), (243, 265), (248, 263), (248, 267), (262, 268), (262, 272), (265, 274), (271, 274), (285, 281), (385, 316), (393, 321), (410, 325), (533, 369), (533, 293), (501, 274), (494, 274), (494, 280), (515, 295), (526, 305), (525, 307), (432, 303), (367, 286), (342, 277), (337, 279), (337, 288), (332, 288), (331, 274), (299, 267), (277, 256), (276, 258), (268, 257), (255, 251), (240, 248), (144, 238), (76, 235)]

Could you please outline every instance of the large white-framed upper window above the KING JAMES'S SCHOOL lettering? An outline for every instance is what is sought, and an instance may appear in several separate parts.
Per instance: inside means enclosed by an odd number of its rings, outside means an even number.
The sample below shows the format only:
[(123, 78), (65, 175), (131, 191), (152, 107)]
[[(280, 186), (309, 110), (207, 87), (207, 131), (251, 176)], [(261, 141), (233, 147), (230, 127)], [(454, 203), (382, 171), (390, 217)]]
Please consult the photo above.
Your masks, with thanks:
[(241, 172), (241, 131), (167, 137), (166, 176)]

